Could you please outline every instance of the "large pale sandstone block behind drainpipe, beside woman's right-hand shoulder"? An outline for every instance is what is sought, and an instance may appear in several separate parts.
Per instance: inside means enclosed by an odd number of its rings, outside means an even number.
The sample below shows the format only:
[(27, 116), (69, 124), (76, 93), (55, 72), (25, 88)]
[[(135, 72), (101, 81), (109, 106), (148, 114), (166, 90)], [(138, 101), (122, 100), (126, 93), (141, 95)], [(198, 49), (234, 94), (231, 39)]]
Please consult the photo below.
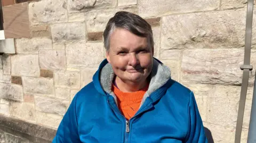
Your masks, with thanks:
[[(203, 121), (221, 125), (222, 127), (236, 127), (237, 111), (241, 86), (184, 84), (194, 92)], [(248, 88), (243, 128), (249, 128), (252, 87)], [(203, 101), (200, 98), (206, 100)], [(199, 99), (199, 100), (198, 100)]]

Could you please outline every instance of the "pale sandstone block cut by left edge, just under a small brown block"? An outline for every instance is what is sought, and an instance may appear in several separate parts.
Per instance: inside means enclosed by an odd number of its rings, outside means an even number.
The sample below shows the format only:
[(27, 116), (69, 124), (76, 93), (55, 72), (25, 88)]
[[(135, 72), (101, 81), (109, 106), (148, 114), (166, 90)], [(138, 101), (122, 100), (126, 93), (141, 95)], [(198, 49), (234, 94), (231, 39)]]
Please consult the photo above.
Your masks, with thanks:
[(23, 89), (20, 85), (0, 83), (0, 98), (23, 100)]

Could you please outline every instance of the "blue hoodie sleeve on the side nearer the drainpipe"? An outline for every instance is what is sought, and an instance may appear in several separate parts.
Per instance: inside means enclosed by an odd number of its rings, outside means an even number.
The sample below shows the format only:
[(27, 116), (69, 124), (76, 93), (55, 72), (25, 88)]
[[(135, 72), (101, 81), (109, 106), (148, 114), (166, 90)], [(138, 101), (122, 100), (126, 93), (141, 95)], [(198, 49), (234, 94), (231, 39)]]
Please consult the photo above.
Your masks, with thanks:
[(196, 99), (193, 92), (190, 92), (190, 102), (188, 105), (189, 131), (187, 133), (187, 143), (207, 143), (204, 132), (204, 125), (198, 111)]

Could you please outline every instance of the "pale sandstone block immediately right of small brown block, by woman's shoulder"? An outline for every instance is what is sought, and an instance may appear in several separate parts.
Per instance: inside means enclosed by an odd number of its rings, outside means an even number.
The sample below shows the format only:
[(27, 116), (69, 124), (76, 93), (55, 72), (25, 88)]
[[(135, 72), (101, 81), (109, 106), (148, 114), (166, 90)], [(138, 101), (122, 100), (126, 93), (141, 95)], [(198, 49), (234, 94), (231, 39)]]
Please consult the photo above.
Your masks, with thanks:
[(54, 81), (56, 87), (80, 88), (80, 72), (66, 71), (55, 72)]

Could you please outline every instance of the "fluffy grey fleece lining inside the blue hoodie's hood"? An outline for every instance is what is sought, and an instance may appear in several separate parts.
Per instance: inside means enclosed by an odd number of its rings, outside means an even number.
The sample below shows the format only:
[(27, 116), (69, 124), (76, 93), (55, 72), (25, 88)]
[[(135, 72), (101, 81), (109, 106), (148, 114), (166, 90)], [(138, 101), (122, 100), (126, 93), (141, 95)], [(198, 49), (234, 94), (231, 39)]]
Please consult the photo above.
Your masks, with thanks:
[[(114, 97), (115, 102), (117, 104), (117, 98), (113, 91), (111, 91), (111, 86), (113, 83), (115, 73), (112, 69), (111, 64), (106, 64), (101, 72), (100, 72), (100, 83), (103, 88), (108, 94)], [(157, 62), (155, 59), (153, 59), (153, 69), (150, 74), (150, 83), (148, 90), (146, 91), (145, 95), (143, 96), (141, 100), (140, 107), (145, 102), (146, 98), (149, 97), (149, 95), (157, 90), (158, 88), (162, 87), (171, 77), (171, 71), (170, 69)], [(118, 104), (117, 104), (118, 105)]]

